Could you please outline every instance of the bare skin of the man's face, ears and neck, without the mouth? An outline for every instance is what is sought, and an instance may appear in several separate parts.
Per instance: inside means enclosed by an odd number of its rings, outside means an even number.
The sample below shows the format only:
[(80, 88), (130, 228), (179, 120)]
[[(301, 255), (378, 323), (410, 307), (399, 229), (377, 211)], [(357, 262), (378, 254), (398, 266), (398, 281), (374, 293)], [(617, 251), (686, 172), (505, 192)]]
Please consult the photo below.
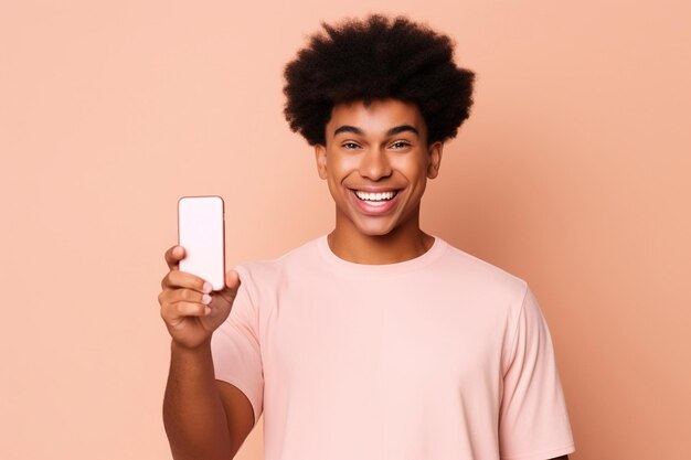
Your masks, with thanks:
[[(319, 176), (336, 203), (331, 250), (357, 264), (392, 264), (424, 254), (434, 237), (419, 228), (427, 179), (442, 162), (443, 142), (427, 145), (417, 106), (396, 99), (340, 104), (326, 126), (326, 146), (315, 146)], [(368, 215), (352, 190), (398, 190), (385, 215)]]

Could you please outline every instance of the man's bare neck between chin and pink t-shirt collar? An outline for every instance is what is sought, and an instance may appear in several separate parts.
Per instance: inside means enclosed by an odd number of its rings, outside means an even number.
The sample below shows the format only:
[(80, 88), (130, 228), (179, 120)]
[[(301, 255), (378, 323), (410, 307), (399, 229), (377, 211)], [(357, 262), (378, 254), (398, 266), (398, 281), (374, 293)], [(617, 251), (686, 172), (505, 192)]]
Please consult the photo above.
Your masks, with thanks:
[(418, 220), (394, 228), (385, 235), (366, 235), (353, 225), (337, 225), (327, 240), (331, 252), (355, 264), (395, 264), (419, 257), (434, 244), (434, 236), (424, 233)]

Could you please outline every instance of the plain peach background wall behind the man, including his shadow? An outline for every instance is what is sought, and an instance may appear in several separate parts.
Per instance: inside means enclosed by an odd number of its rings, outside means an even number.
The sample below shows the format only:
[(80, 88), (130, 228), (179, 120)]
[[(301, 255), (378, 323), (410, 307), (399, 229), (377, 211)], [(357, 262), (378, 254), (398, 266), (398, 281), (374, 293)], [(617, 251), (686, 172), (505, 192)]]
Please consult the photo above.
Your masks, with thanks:
[(0, 458), (170, 458), (177, 199), (225, 197), (231, 265), (328, 232), (281, 71), (368, 11), (449, 33), (478, 74), (423, 227), (533, 287), (572, 458), (688, 458), (691, 8), (670, 0), (3, 1)]

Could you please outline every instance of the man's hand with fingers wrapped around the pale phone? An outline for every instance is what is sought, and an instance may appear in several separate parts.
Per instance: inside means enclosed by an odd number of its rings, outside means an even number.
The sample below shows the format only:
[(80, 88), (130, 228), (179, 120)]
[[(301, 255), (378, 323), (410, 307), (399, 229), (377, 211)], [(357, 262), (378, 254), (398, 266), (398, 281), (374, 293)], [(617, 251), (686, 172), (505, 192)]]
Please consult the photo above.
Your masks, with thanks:
[(179, 263), (184, 254), (182, 246), (173, 246), (166, 252), (170, 271), (161, 281), (163, 290), (158, 296), (158, 302), (173, 341), (187, 349), (195, 349), (210, 341), (213, 331), (226, 320), (241, 282), (237, 271), (228, 270), (224, 288), (212, 292), (210, 282), (180, 271)]

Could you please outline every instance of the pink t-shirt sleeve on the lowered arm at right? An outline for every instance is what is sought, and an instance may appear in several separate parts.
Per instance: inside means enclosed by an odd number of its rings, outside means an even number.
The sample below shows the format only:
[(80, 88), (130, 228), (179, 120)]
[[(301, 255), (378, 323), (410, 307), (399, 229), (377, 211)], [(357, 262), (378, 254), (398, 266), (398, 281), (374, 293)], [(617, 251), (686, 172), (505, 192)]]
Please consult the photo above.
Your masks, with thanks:
[(528, 286), (514, 328), (499, 417), (501, 459), (571, 453), (574, 441), (550, 330)]

